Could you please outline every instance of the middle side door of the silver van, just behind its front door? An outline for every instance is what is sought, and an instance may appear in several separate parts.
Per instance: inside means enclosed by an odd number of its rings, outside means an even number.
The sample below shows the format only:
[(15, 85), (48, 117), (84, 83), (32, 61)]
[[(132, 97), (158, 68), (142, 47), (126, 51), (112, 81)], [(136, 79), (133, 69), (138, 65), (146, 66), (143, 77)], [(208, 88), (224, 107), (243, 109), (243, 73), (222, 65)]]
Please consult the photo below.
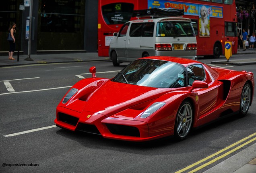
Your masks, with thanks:
[(140, 55), (140, 37), (143, 23), (132, 23), (130, 32), (126, 35), (126, 49), (128, 61), (141, 58)]

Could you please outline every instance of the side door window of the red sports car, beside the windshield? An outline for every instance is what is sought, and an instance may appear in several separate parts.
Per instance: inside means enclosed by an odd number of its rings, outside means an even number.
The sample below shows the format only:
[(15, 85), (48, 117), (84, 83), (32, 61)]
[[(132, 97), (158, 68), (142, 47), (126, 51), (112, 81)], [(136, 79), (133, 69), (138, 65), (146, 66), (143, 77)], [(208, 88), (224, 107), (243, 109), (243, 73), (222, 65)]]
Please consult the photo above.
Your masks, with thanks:
[(193, 84), (195, 80), (204, 80), (205, 73), (201, 64), (194, 64), (187, 67), (188, 71), (188, 85)]

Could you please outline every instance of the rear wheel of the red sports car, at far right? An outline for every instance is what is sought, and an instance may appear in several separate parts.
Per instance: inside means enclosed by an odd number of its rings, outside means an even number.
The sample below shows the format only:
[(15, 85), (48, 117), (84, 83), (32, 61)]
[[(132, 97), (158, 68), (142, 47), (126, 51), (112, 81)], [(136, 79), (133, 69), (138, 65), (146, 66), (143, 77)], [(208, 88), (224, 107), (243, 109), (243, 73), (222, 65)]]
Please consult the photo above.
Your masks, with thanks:
[(239, 114), (243, 117), (247, 114), (252, 100), (251, 87), (246, 82), (241, 93)]

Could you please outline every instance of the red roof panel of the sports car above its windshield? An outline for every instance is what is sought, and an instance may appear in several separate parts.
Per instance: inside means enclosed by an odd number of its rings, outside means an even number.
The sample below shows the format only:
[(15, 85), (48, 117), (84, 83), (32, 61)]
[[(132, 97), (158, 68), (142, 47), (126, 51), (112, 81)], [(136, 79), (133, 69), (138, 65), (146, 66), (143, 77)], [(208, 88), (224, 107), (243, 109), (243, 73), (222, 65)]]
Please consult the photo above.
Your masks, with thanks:
[(191, 60), (187, 58), (180, 58), (180, 57), (173, 57), (173, 56), (147, 56), (140, 59), (155, 59), (155, 60), (164, 60), (164, 61), (170, 61), (175, 62), (178, 64), (182, 64), (183, 66), (187, 67), (191, 64), (202, 64), (201, 62), (197, 60)]

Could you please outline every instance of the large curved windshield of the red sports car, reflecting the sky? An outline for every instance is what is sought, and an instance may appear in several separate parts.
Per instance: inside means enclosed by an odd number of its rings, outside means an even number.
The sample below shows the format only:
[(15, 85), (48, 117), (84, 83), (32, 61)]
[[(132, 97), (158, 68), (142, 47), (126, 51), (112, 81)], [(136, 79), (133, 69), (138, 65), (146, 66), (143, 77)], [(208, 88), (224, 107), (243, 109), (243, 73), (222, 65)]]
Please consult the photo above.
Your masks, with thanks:
[(186, 71), (184, 66), (174, 62), (140, 59), (126, 66), (112, 81), (154, 88), (178, 88), (186, 85)]

